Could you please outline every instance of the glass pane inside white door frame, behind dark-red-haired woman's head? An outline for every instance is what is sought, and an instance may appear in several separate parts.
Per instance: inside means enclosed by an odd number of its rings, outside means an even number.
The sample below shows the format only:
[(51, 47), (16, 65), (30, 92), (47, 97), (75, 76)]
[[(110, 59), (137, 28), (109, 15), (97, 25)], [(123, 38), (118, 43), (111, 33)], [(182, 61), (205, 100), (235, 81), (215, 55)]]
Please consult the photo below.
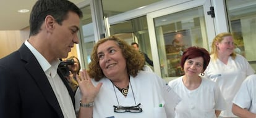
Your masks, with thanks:
[(196, 7), (154, 19), (161, 76), (182, 76), (184, 50), (190, 46), (208, 49), (203, 7)]

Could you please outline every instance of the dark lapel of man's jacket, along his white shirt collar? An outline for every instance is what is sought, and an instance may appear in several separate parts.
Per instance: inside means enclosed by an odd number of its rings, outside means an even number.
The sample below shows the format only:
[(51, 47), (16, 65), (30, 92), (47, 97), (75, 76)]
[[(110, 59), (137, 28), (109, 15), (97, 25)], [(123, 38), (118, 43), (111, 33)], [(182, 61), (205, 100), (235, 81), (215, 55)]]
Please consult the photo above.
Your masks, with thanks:
[(33, 53), (27, 48), (27, 46), (25, 46), (25, 44), (22, 44), (19, 52), (20, 58), (24, 61), (27, 61), (25, 68), (27, 69), (28, 73), (31, 74), (32, 78), (35, 79), (35, 82), (40, 88), (41, 93), (43, 93), (45, 96), (45, 99), (49, 104), (51, 104), (54, 110), (58, 112), (59, 117), (64, 118), (58, 100), (53, 92), (53, 89), (51, 89), (48, 78), (46, 77), (45, 72), (41, 68)]

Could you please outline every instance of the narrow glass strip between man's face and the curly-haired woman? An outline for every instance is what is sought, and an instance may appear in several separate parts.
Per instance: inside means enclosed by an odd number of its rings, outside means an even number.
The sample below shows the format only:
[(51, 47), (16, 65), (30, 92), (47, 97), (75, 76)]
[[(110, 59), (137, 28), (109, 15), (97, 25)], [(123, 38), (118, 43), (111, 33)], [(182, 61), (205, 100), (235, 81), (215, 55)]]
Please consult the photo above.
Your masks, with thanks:
[(90, 54), (93, 50), (93, 45), (95, 44), (95, 36), (93, 32), (92, 14), (90, 6), (83, 7), (83, 18), (80, 26), (80, 49), (82, 49), (81, 58), (85, 63), (85, 68), (88, 67), (90, 63)]

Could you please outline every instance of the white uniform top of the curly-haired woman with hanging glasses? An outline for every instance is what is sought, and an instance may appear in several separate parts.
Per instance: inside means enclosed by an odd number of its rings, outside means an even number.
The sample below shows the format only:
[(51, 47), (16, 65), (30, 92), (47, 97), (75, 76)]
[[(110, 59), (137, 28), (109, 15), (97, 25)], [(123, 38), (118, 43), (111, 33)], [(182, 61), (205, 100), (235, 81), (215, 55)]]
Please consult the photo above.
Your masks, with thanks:
[[(98, 84), (92, 79), (93, 84)], [(171, 117), (174, 116), (174, 107), (169, 108), (166, 106), (166, 84), (163, 79), (157, 76), (155, 73), (147, 71), (140, 71), (136, 77), (130, 76), (130, 84), (128, 94), (125, 97), (122, 93), (113, 85), (108, 78), (103, 78), (99, 82), (102, 82), (100, 92), (95, 98), (95, 106), (93, 107), (93, 117), (111, 117), (111, 118), (156, 118), (156, 117)], [(116, 93), (114, 92), (116, 91)], [(177, 95), (175, 93), (175, 95)], [(79, 110), (80, 90), (75, 95), (76, 111)], [(116, 97), (117, 96), (117, 97)], [(118, 104), (118, 102), (119, 104)], [(174, 102), (174, 101), (173, 101)], [(141, 104), (142, 112), (132, 113), (114, 112), (114, 106), (135, 106)], [(160, 104), (163, 107), (160, 108)], [(173, 113), (173, 114), (172, 114)], [(168, 114), (168, 115), (166, 115)]]

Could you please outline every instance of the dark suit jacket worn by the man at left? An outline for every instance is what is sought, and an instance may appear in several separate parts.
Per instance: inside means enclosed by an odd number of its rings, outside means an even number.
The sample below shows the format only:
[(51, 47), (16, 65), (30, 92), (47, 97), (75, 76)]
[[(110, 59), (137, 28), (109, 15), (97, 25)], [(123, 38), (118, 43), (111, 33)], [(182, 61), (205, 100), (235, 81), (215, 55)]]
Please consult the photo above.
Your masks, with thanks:
[[(74, 104), (72, 89), (59, 69), (58, 74)], [(45, 72), (25, 44), (0, 59), (0, 117), (64, 118)]]

